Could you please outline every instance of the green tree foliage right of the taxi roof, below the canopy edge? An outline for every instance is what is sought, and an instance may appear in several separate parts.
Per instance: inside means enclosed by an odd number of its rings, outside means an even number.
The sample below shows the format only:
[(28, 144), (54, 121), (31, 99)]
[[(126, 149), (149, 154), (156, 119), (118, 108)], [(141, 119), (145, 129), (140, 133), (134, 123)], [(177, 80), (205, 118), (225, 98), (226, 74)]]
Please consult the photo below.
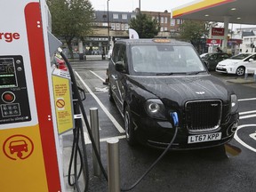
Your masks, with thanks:
[(192, 44), (208, 35), (207, 23), (200, 20), (185, 20), (180, 26), (180, 38)]

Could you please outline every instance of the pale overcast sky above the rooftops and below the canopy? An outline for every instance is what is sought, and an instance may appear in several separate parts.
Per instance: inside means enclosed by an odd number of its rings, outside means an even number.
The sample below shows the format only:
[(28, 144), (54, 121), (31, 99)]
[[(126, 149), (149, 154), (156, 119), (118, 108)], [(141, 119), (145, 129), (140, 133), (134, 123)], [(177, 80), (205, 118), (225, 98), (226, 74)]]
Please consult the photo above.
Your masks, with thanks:
[[(139, 7), (141, 11), (164, 12), (167, 10), (171, 12), (173, 8), (180, 7), (184, 4), (189, 4), (195, 0), (89, 0), (95, 11), (117, 11), (117, 12), (132, 12)], [(108, 3), (107, 3), (108, 2)], [(108, 4), (108, 5), (107, 5)], [(250, 25), (233, 26), (235, 28), (250, 28)], [(255, 26), (253, 26), (255, 27)], [(229, 24), (231, 28), (231, 24)]]

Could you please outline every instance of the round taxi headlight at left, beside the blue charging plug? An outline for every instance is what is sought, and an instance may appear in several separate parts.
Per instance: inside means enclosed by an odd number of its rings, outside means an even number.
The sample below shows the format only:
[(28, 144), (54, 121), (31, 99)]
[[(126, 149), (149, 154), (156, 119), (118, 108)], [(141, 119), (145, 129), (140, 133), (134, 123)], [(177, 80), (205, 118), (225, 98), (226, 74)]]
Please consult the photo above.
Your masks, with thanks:
[(161, 100), (158, 99), (150, 99), (145, 102), (145, 109), (148, 114), (148, 116), (151, 116), (153, 118), (161, 118), (165, 119), (164, 116), (164, 104)]

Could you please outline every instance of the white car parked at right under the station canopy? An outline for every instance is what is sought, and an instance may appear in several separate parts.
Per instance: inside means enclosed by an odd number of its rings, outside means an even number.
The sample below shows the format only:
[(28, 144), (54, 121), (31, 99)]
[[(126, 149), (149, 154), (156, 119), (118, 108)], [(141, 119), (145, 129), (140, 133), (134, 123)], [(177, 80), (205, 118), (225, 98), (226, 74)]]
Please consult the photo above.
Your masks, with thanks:
[(215, 70), (220, 73), (244, 76), (246, 68), (256, 68), (256, 53), (245, 52), (218, 63)]

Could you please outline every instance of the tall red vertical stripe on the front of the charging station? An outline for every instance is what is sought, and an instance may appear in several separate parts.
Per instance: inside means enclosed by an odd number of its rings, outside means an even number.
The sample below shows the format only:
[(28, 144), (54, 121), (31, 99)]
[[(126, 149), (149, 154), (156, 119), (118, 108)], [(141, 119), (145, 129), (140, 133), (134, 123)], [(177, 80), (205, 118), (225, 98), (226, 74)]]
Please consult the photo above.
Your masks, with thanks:
[(57, 192), (60, 191), (60, 174), (53, 124), (52, 120), (48, 120), (48, 116), (52, 116), (52, 109), (44, 54), (44, 35), (40, 4), (28, 4), (25, 8), (25, 17), (48, 189), (49, 191)]

